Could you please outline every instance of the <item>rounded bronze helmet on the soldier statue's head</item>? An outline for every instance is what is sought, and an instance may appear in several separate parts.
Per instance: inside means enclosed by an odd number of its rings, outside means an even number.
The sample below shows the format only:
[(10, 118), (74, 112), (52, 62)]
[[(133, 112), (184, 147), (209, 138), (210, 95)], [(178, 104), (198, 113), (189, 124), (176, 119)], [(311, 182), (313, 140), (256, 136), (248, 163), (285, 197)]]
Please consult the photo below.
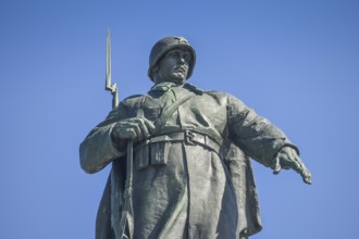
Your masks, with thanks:
[(165, 37), (161, 40), (157, 41), (157, 43), (152, 47), (150, 56), (149, 56), (149, 68), (148, 68), (148, 76), (153, 81), (152, 76), (152, 68), (156, 64), (160, 61), (160, 59), (170, 50), (175, 48), (182, 48), (189, 50), (191, 54), (191, 61), (189, 62), (189, 68), (187, 74), (187, 79), (191, 76), (191, 73), (195, 67), (196, 63), (196, 51), (195, 49), (188, 43), (186, 38), (184, 37)]

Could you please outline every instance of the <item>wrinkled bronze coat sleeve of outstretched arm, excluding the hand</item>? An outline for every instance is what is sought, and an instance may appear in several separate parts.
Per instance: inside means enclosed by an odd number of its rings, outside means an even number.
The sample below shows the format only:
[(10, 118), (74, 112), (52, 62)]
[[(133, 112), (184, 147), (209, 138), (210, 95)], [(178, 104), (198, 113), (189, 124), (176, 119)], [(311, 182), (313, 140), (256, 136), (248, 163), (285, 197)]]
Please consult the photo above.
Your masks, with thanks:
[(227, 99), (227, 121), (232, 141), (265, 166), (274, 164), (274, 158), (283, 147), (294, 148), (299, 154), (298, 148), (280, 128), (232, 96)]

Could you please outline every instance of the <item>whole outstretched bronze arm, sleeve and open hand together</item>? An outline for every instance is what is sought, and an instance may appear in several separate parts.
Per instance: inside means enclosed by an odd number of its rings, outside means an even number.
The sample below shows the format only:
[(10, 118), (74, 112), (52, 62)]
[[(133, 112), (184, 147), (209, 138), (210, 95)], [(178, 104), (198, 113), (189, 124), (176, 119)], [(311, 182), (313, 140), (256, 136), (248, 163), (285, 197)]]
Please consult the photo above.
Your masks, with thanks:
[(280, 128), (234, 97), (228, 97), (228, 126), (233, 142), (250, 158), (273, 168), (274, 174), (281, 168), (292, 168), (306, 184), (311, 184), (310, 172), (298, 156), (298, 148)]

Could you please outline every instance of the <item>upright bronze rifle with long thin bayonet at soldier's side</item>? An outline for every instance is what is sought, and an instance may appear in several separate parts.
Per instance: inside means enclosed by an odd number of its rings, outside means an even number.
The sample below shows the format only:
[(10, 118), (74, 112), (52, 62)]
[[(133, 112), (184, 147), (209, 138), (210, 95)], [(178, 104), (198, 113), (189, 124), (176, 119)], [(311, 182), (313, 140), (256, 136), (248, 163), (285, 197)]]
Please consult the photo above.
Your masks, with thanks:
[[(119, 92), (117, 85), (111, 83), (111, 35), (110, 29), (107, 30), (107, 41), (106, 41), (106, 86), (104, 89), (110, 91), (112, 95), (112, 109), (116, 108), (119, 104)], [(126, 155), (126, 183), (124, 191), (124, 202), (122, 206), (122, 214), (120, 218), (120, 204), (121, 196), (119, 185), (119, 172), (115, 169), (115, 162), (112, 162), (111, 169), (111, 222), (112, 228), (116, 239), (128, 239), (133, 238), (133, 227), (132, 218), (129, 218), (129, 210), (132, 211), (132, 190), (133, 190), (133, 140), (127, 141), (127, 155)], [(128, 235), (126, 231), (126, 224), (128, 223)]]

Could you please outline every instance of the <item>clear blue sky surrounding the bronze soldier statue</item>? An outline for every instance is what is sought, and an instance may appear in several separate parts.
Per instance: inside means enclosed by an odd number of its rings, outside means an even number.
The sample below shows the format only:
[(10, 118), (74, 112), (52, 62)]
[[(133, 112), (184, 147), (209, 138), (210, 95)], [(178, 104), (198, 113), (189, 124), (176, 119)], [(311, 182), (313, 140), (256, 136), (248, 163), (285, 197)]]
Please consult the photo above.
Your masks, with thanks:
[(312, 186), (253, 163), (253, 239), (357, 238), (358, 12), (355, 0), (1, 0), (0, 238), (94, 238), (109, 168), (85, 174), (78, 144), (111, 109), (107, 27), (120, 98), (148, 90), (150, 48), (182, 35), (193, 84), (235, 95), (298, 144)]

